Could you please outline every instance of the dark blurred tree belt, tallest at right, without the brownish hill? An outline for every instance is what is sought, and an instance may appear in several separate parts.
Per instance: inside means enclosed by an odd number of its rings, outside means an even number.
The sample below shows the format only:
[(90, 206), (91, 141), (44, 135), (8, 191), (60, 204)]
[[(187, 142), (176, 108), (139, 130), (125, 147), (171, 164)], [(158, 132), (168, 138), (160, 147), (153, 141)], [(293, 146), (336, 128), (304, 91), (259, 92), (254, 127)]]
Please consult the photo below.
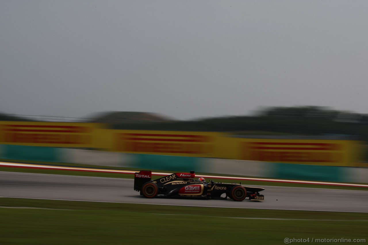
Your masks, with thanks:
[(116, 122), (113, 129), (213, 131), (263, 135), (346, 135), (368, 141), (368, 115), (328, 107), (270, 107), (253, 116), (203, 118), (192, 121)]

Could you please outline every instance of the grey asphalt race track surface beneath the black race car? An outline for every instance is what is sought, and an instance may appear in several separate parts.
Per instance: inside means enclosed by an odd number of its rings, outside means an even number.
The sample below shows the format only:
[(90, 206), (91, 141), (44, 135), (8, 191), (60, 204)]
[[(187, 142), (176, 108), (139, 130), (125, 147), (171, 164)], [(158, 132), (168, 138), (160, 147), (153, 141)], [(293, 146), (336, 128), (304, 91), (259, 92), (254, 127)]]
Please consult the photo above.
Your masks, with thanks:
[[(258, 185), (258, 187), (265, 188), (262, 191), (262, 194), (265, 195), (263, 202), (247, 199), (243, 202), (234, 202), (231, 199), (146, 199), (140, 196), (139, 192), (133, 190), (133, 181), (132, 179), (120, 178), (0, 172), (0, 197), (183, 206), (368, 212), (368, 191)], [(246, 185), (246, 183), (242, 184)]]

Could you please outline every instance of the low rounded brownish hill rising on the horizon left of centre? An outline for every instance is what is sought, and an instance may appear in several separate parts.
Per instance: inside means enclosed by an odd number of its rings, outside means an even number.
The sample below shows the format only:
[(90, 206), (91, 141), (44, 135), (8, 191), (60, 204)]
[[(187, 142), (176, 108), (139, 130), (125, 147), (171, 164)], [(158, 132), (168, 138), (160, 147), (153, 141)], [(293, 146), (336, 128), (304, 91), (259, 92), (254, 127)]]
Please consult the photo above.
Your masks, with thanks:
[(93, 123), (167, 123), (173, 121), (155, 113), (138, 111), (107, 111), (93, 117)]

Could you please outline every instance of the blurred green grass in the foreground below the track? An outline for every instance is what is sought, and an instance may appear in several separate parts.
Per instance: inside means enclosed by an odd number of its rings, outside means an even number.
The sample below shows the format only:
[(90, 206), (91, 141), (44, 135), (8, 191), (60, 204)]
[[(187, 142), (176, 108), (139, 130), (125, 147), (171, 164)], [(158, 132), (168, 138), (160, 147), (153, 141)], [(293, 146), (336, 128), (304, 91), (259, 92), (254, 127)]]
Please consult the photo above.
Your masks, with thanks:
[(0, 208), (0, 244), (284, 244), (286, 237), (368, 238), (368, 213), (14, 198), (0, 198), (0, 206), (66, 209)]

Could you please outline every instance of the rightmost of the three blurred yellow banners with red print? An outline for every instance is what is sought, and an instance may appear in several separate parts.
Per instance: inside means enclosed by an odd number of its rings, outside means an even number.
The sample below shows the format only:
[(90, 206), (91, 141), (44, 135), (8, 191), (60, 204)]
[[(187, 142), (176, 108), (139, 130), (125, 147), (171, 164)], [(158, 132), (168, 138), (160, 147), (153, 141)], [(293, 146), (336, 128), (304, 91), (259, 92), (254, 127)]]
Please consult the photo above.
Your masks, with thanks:
[(357, 141), (238, 139), (238, 159), (277, 163), (353, 166)]

